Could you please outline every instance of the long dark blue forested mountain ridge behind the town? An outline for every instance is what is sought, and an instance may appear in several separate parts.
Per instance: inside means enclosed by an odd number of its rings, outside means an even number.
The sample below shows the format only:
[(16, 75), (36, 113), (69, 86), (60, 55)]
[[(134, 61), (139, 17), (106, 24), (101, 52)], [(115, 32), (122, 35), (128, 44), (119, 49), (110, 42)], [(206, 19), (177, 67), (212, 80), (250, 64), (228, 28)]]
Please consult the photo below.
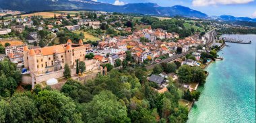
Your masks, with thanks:
[(184, 17), (207, 17), (205, 13), (176, 5), (160, 7), (155, 3), (129, 3), (126, 5), (112, 5), (91, 0), (0, 0), (0, 7), (19, 11), (52, 11), (88, 9), (122, 13), (142, 13), (147, 15), (181, 15)]

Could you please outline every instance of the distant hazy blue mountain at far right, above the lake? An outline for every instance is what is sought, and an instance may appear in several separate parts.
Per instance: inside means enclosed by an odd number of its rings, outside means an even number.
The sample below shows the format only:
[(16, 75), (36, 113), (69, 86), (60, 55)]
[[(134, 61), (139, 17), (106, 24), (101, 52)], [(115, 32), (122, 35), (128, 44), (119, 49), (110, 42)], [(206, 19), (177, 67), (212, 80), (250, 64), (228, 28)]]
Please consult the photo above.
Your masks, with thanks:
[(218, 19), (230, 22), (256, 22), (256, 18), (250, 17), (234, 17), (232, 15), (221, 15)]

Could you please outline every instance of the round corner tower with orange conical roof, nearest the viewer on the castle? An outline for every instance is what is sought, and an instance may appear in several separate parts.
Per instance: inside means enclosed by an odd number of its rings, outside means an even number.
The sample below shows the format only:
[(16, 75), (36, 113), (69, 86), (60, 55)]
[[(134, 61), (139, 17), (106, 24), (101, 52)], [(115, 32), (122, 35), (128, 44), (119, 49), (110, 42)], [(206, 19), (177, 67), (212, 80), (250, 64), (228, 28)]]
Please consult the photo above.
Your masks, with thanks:
[(29, 51), (28, 63), (30, 63), (29, 64), (30, 71), (36, 72), (37, 71), (37, 63), (36, 63), (36, 52), (34, 52), (34, 49), (31, 49)]

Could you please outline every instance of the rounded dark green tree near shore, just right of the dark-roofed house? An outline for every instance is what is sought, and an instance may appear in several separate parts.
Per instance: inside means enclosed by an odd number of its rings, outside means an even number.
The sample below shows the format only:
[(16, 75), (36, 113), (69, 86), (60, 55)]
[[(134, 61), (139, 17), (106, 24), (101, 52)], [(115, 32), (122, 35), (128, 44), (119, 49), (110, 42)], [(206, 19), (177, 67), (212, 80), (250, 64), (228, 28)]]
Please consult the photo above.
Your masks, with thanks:
[(183, 65), (178, 69), (179, 81), (181, 83), (190, 83), (193, 77), (191, 67)]

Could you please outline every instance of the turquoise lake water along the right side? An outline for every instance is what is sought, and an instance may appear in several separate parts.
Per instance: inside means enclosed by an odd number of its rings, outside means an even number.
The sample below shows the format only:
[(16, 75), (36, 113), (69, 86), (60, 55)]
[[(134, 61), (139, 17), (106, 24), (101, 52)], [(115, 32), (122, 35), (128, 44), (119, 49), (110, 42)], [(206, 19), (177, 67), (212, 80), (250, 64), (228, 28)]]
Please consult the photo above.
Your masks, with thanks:
[[(210, 75), (189, 112), (188, 123), (255, 122), (256, 35), (225, 35), (252, 44), (226, 43), (218, 52), (224, 60), (207, 67)], [(222, 54), (223, 53), (223, 54)]]

